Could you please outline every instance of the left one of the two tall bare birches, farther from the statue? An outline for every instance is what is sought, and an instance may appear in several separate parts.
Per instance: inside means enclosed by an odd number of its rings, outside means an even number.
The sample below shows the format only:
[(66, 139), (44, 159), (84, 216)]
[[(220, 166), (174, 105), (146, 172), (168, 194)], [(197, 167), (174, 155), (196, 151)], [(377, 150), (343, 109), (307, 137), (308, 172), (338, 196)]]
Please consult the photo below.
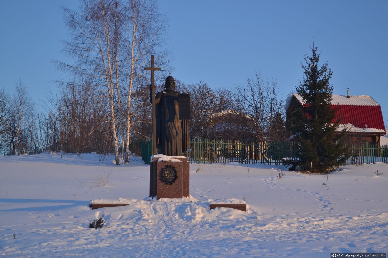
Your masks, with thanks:
[(109, 100), (109, 122), (111, 125), (116, 165), (120, 165), (118, 136), (116, 129), (118, 44), (114, 40), (118, 34), (118, 2), (115, 0), (83, 0), (81, 10), (64, 8), (68, 28), (72, 38), (65, 42), (66, 52), (74, 64), (59, 62), (76, 76), (87, 76), (96, 90), (104, 89)]

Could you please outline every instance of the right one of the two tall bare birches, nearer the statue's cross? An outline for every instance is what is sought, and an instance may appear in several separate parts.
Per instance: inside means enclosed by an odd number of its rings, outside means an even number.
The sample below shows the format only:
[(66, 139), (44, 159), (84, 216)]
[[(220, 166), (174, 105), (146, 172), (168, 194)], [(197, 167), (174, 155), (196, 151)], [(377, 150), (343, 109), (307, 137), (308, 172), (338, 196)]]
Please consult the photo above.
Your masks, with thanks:
[[(123, 28), (123, 43), (125, 47), (125, 62), (124, 67), (127, 85), (123, 85), (126, 89), (126, 141), (125, 141), (125, 162), (129, 162), (129, 144), (131, 126), (136, 123), (143, 123), (144, 120), (133, 119), (139, 118), (135, 110), (139, 110), (139, 106), (143, 105), (139, 99), (143, 99), (144, 85), (136, 85), (136, 81), (141, 81), (139, 77), (144, 76), (144, 66), (149, 62), (150, 55), (155, 55), (157, 64), (168, 64), (168, 50), (165, 48), (165, 15), (157, 12), (158, 6), (154, 0), (130, 0), (125, 6), (124, 28)], [(134, 89), (135, 87), (135, 89)], [(146, 87), (147, 89), (148, 87)], [(140, 92), (133, 96), (133, 92)], [(132, 103), (135, 100), (135, 103)]]

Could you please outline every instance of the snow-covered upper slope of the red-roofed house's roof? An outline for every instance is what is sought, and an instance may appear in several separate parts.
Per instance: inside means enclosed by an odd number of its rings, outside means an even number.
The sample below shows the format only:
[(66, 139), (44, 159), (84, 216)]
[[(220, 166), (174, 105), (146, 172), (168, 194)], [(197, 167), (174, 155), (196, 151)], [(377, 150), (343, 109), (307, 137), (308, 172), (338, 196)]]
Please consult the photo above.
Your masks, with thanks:
[[(286, 100), (284, 110), (288, 109), (292, 100), (292, 96), (295, 96), (300, 103), (303, 103), (302, 97), (299, 94), (291, 94)], [(331, 105), (379, 106), (379, 103), (377, 103), (376, 100), (368, 95), (350, 96), (350, 98), (348, 98), (346, 95), (332, 95)]]

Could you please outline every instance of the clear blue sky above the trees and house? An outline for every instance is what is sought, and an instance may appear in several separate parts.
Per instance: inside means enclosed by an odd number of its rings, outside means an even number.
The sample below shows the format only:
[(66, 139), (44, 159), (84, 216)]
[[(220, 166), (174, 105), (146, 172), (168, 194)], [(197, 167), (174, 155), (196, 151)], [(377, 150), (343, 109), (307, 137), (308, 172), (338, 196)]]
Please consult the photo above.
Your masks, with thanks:
[[(21, 79), (34, 100), (56, 91), (53, 59), (68, 37), (61, 5), (74, 0), (2, 2), (0, 87)], [(257, 71), (277, 80), (280, 93), (295, 89), (312, 37), (333, 70), (334, 94), (371, 95), (388, 119), (388, 1), (159, 1), (170, 20), (172, 72), (184, 83), (234, 88)], [(162, 67), (163, 68), (163, 67)], [(388, 126), (388, 120), (385, 120)]]

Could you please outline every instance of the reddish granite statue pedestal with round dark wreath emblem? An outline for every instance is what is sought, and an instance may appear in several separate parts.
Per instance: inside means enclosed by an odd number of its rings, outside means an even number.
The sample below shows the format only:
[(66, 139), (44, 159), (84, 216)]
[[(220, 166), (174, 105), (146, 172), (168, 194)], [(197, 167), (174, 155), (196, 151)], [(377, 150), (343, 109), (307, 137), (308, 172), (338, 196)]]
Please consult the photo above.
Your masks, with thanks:
[(183, 156), (151, 157), (149, 196), (160, 198), (183, 198), (190, 196), (190, 165)]

